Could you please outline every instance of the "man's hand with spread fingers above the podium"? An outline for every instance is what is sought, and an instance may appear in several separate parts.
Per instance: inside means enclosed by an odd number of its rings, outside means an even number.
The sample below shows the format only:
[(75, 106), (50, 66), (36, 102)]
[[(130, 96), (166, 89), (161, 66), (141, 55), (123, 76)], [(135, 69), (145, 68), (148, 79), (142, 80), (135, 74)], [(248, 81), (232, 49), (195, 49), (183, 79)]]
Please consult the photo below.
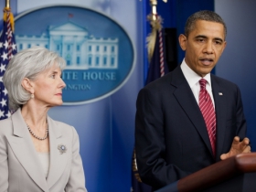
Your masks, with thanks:
[(247, 137), (245, 137), (240, 142), (240, 137), (235, 136), (229, 153), (220, 155), (220, 159), (224, 160), (229, 158), (230, 156), (239, 155), (243, 153), (251, 153), (251, 146), (249, 144), (250, 141)]

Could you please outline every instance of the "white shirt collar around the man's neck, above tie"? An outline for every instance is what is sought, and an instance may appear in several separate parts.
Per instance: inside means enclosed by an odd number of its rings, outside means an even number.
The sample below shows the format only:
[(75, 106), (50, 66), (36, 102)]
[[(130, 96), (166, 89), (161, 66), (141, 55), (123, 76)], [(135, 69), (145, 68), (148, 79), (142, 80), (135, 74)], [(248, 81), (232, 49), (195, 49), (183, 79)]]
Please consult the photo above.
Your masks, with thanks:
[[(187, 66), (187, 63), (186, 63), (185, 59), (183, 59), (180, 68), (181, 68), (181, 70), (182, 70), (190, 88), (192, 88), (194, 85), (197, 84), (197, 82), (199, 80), (202, 79), (202, 77), (197, 75), (197, 73), (194, 70), (190, 69)], [(208, 73), (203, 79), (207, 80), (208, 85), (211, 87), (210, 73)]]

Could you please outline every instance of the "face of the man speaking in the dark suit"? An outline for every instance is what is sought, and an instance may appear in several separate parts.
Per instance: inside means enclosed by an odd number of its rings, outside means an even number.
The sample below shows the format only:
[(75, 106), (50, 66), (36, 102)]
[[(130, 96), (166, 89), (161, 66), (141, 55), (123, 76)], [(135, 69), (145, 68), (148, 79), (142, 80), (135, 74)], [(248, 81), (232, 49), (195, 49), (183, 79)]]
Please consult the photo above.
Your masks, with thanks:
[(224, 27), (219, 23), (197, 20), (188, 37), (179, 36), (179, 44), (186, 51), (188, 67), (205, 77), (215, 67), (226, 47)]

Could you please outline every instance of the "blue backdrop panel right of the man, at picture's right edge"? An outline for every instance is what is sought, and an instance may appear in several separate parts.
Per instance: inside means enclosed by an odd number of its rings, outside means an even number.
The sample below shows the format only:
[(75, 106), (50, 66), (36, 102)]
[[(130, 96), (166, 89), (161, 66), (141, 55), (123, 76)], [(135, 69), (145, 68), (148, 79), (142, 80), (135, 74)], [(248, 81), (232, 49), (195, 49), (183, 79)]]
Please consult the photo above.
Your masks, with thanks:
[(252, 151), (256, 150), (255, 7), (256, 1), (223, 0), (215, 3), (216, 12), (228, 27), (227, 47), (216, 67), (216, 74), (240, 87)]

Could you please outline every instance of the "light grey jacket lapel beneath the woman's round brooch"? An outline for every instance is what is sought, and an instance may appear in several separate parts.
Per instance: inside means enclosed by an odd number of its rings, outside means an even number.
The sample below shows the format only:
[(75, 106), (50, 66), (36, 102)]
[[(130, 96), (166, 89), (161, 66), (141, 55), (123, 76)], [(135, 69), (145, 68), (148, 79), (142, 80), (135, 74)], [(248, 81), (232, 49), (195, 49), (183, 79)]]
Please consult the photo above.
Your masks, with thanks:
[[(50, 145), (50, 166), (48, 172), (48, 188), (52, 187), (63, 174), (65, 167), (67, 166), (68, 159), (71, 153), (70, 141), (62, 136), (61, 127), (59, 123), (54, 122), (48, 117), (48, 133), (49, 133), (49, 145)], [(67, 151), (63, 154), (58, 149), (59, 145), (64, 145)]]

